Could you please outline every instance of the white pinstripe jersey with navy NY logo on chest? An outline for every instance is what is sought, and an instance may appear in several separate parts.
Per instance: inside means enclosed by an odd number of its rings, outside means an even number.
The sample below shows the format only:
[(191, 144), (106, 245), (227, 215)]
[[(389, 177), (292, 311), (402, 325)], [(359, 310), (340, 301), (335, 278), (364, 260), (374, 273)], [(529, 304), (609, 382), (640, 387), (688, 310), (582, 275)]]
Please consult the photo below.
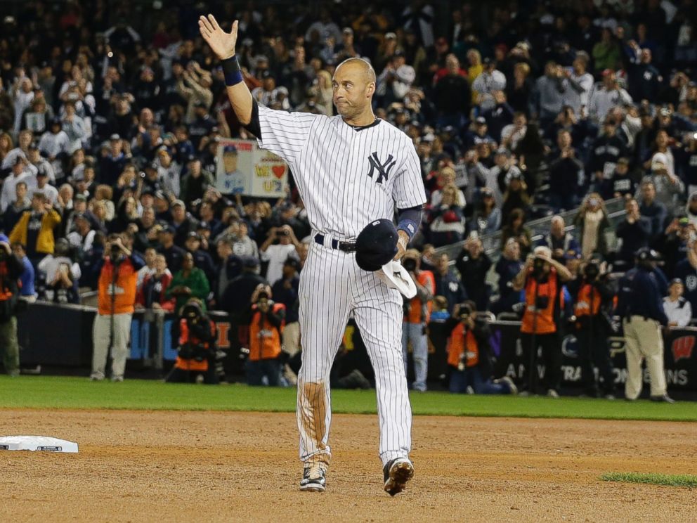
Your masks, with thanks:
[(384, 120), (355, 129), (341, 116), (271, 110), (259, 105), (259, 147), (290, 166), (314, 231), (355, 240), (394, 207), (426, 202), (411, 139)]

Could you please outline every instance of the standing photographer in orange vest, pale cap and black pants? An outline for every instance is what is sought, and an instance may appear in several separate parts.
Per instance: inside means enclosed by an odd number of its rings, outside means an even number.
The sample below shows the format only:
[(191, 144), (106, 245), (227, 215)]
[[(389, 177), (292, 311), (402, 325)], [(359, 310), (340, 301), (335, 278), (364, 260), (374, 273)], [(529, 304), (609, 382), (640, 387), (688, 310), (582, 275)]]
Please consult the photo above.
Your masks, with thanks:
[[(538, 389), (538, 348), (545, 363), (543, 389), (547, 396), (559, 397), (561, 382), (561, 311), (564, 309), (564, 282), (571, 279), (566, 267), (552, 259), (549, 247), (535, 247), (523, 269), (513, 280), (514, 290), (525, 290), (525, 311), (521, 324), (523, 354), (528, 356), (521, 384), (528, 394)], [(526, 380), (527, 378), (527, 380)]]

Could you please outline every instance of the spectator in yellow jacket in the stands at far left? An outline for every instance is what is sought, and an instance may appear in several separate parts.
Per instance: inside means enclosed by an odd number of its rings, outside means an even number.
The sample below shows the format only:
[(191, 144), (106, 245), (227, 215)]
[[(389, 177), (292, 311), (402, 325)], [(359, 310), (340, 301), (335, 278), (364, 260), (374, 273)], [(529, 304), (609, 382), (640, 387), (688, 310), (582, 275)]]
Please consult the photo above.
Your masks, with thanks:
[(60, 214), (46, 202), (44, 193), (34, 192), (32, 208), (25, 211), (10, 233), (11, 243), (27, 245), (27, 256), (37, 266), (46, 254), (53, 254), (53, 229), (60, 224)]

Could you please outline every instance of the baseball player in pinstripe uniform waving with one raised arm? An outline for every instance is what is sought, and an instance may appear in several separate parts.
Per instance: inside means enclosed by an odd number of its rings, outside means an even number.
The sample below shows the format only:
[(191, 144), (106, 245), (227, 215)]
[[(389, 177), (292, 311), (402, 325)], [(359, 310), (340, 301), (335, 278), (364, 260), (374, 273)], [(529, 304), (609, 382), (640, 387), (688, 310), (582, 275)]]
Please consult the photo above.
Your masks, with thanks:
[(377, 233), (384, 233), (377, 231), (383, 228), (381, 219), (391, 221), (396, 206), (394, 245), (385, 245), (393, 249), (391, 257), (402, 257), (426, 202), (415, 148), (403, 132), (374, 116), (375, 72), (365, 60), (349, 58), (334, 72), (334, 105), (339, 115), (270, 110), (258, 105), (242, 82), (235, 56), (237, 22), (227, 33), (208, 15), (200, 18), (199, 27), (222, 60), (237, 118), (257, 137), (261, 148), (289, 164), (313, 229), (299, 289), (303, 352), (297, 421), (304, 464), (300, 489), (325, 490), (332, 456), (330, 368), (353, 313), (375, 369), (379, 456), (384, 489), (394, 496), (414, 474), (408, 456), (411, 408), (400, 342), (402, 297), (382, 283), (377, 273), (358, 266), (356, 241), (371, 224), (376, 224)]

